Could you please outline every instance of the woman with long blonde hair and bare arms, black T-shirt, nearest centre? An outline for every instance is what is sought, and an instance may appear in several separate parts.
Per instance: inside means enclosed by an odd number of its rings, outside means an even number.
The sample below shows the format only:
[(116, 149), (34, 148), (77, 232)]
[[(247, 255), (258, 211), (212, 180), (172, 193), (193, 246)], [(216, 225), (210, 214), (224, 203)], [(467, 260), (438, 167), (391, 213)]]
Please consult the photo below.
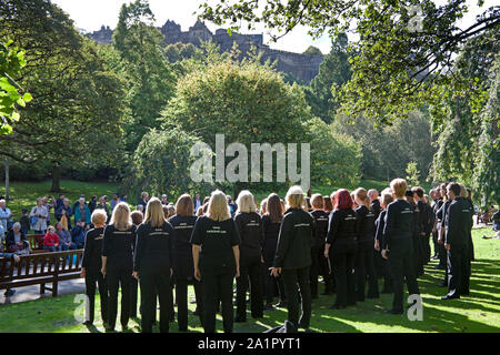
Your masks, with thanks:
[(224, 332), (232, 333), (232, 283), (234, 276), (240, 276), (240, 242), (226, 194), (217, 190), (212, 192), (207, 214), (198, 217), (191, 236), (194, 277), (201, 281), (206, 333), (216, 333), (219, 301)]

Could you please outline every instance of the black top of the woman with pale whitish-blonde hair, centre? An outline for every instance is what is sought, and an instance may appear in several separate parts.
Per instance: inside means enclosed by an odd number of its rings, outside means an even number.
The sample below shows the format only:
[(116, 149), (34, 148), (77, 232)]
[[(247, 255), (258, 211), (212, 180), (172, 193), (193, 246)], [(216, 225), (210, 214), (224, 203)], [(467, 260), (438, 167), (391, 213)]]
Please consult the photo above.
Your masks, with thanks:
[(262, 256), (262, 220), (256, 212), (239, 212), (234, 223), (240, 234), (240, 265), (260, 260)]

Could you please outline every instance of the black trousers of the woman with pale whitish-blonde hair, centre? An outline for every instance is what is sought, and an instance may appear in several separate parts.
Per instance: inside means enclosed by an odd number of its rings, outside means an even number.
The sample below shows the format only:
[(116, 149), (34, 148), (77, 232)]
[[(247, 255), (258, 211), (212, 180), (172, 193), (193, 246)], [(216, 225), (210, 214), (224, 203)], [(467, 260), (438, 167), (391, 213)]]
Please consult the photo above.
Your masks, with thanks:
[(237, 278), (237, 318), (247, 320), (247, 291), (250, 285), (250, 310), (253, 318), (263, 316), (262, 263), (260, 258), (240, 264)]

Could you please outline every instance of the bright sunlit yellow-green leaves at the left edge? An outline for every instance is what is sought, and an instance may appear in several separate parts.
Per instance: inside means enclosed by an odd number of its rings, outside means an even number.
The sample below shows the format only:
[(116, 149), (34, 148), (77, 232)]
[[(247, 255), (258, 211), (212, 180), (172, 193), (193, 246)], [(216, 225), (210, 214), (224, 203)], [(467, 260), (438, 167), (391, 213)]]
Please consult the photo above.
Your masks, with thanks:
[(10, 124), (19, 120), (16, 104), (26, 106), (31, 101), (29, 92), (21, 97), (22, 88), (12, 79), (26, 65), (24, 52), (12, 43), (0, 43), (0, 135), (12, 133)]

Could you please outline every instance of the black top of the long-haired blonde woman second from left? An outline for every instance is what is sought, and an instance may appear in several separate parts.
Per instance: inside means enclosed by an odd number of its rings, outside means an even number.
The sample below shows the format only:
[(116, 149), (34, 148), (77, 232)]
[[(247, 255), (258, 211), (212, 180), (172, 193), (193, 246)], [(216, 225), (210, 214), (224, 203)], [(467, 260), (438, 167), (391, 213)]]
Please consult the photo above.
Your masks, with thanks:
[(107, 268), (127, 268), (133, 267), (133, 241), (136, 240), (136, 226), (132, 225), (127, 231), (119, 231), (114, 224), (104, 227), (104, 237), (102, 240), (102, 256), (107, 256)]

